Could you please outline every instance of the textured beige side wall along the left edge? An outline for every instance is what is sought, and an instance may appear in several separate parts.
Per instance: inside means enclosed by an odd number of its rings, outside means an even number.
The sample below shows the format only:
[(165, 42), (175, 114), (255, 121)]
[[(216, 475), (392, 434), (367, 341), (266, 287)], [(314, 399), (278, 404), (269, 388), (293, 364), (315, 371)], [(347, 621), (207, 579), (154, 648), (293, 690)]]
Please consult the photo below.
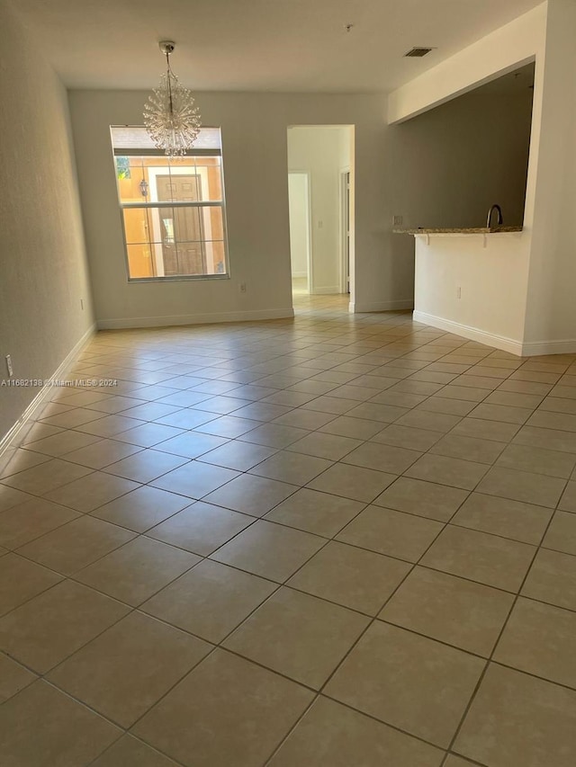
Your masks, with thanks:
[[(4, 3), (0, 50), (0, 380), (46, 379), (93, 323), (67, 96)], [(0, 440), (37, 392), (0, 388)]]

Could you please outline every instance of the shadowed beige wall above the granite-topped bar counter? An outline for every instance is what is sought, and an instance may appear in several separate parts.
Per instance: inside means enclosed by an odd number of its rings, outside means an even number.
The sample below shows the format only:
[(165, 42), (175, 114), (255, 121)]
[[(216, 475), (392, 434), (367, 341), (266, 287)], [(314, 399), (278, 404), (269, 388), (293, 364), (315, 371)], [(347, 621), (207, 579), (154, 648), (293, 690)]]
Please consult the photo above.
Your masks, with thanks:
[(386, 148), (403, 227), (483, 227), (491, 204), (521, 226), (532, 91), (466, 94), (401, 125)]

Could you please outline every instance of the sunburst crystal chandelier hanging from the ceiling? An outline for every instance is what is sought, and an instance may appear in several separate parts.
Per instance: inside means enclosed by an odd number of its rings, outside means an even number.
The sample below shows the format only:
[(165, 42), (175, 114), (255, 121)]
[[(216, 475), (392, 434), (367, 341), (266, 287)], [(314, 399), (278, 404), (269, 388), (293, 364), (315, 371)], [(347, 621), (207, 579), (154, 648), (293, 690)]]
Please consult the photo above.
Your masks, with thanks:
[(192, 147), (200, 132), (200, 114), (192, 92), (180, 85), (170, 67), (174, 42), (162, 40), (159, 46), (166, 56), (166, 75), (160, 77), (160, 85), (144, 104), (144, 125), (158, 149), (164, 149), (168, 157), (180, 157)]

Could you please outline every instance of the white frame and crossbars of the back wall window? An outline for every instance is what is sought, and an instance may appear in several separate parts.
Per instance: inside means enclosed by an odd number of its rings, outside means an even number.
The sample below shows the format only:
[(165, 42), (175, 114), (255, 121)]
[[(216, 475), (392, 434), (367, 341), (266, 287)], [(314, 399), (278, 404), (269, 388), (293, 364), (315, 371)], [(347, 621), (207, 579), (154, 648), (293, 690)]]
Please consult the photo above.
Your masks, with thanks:
[[(229, 263), (229, 243), (228, 243), (228, 222), (226, 218), (226, 189), (224, 186), (224, 165), (221, 148), (221, 131), (220, 131), (220, 148), (219, 149), (206, 149), (198, 148), (192, 149), (184, 155), (186, 157), (220, 157), (220, 188), (221, 188), (221, 200), (220, 201), (173, 201), (173, 202), (123, 202), (121, 200), (120, 183), (116, 166), (116, 157), (163, 157), (166, 159), (166, 154), (162, 149), (156, 147), (150, 148), (121, 148), (115, 147), (113, 144), (112, 129), (113, 128), (141, 128), (140, 125), (111, 125), (111, 138), (112, 138), (112, 157), (114, 160), (114, 176), (116, 180), (116, 192), (118, 195), (118, 205), (121, 220), (121, 233), (124, 246), (124, 264), (126, 269), (126, 276), (129, 282), (179, 282), (179, 281), (203, 281), (203, 280), (229, 280), (230, 279), (230, 263)], [(210, 127), (210, 126), (204, 126)], [(220, 130), (220, 128), (219, 128)], [(177, 163), (178, 160), (171, 161)], [(166, 171), (169, 173), (171, 165), (166, 165)], [(190, 166), (191, 172), (194, 172), (193, 166)], [(128, 252), (128, 246), (131, 245), (126, 238), (126, 227), (124, 222), (124, 210), (161, 210), (162, 208), (192, 208), (193, 210), (202, 210), (205, 208), (219, 208), (221, 210), (222, 217), (222, 242), (224, 246), (224, 263), (226, 267), (225, 272), (216, 272), (212, 274), (171, 274), (171, 275), (155, 275), (152, 277), (131, 277), (130, 276), (130, 258)], [(202, 250), (206, 242), (210, 240), (201, 240)], [(150, 243), (154, 245), (154, 243)], [(177, 244), (176, 244), (177, 245)]]

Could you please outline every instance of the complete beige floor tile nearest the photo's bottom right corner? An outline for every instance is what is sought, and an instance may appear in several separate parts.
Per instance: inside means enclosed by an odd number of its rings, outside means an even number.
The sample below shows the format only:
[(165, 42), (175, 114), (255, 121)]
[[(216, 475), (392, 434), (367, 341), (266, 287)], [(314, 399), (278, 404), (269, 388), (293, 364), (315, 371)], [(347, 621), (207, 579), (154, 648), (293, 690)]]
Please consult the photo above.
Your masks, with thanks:
[(446, 747), (484, 661), (377, 621), (338, 668), (326, 694)]

